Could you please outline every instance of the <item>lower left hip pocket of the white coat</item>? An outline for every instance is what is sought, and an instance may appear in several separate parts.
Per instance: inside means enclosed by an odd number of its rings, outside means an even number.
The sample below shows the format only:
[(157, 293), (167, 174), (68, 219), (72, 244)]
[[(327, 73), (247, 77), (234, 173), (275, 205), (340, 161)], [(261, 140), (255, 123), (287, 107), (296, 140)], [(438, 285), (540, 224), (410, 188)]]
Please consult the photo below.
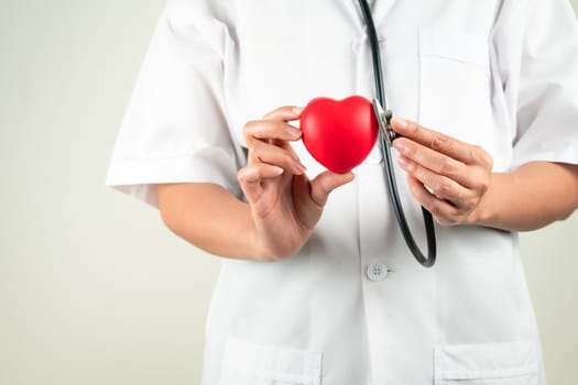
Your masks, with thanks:
[(323, 353), (229, 337), (220, 385), (320, 385)]

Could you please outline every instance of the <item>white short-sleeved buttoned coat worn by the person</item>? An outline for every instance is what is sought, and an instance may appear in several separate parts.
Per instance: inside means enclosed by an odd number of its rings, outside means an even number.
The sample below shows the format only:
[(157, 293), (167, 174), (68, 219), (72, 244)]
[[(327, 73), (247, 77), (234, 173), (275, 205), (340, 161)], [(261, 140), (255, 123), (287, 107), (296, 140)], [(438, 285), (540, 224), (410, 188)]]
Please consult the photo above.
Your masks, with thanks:
[[(495, 172), (578, 163), (578, 28), (566, 0), (377, 0), (373, 14), (396, 116), (481, 145)], [(160, 183), (241, 197), (247, 121), (373, 92), (356, 0), (168, 1), (108, 184), (151, 205)], [(321, 170), (295, 148), (309, 176)], [(379, 152), (355, 173), (297, 255), (222, 261), (204, 384), (545, 384), (516, 234), (438, 227), (437, 264), (423, 268), (391, 212)]]

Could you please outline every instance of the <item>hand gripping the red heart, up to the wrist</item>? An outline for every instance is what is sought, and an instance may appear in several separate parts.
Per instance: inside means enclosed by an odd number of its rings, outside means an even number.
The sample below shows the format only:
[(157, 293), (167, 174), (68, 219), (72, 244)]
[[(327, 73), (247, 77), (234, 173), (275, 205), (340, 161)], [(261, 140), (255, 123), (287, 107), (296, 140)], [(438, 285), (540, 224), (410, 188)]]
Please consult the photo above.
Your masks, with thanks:
[(294, 255), (312, 234), (329, 193), (353, 179), (352, 173), (328, 170), (313, 180), (307, 178), (290, 144), (302, 133), (288, 122), (302, 111), (282, 107), (243, 129), (249, 158), (238, 179), (251, 207), (260, 260)]

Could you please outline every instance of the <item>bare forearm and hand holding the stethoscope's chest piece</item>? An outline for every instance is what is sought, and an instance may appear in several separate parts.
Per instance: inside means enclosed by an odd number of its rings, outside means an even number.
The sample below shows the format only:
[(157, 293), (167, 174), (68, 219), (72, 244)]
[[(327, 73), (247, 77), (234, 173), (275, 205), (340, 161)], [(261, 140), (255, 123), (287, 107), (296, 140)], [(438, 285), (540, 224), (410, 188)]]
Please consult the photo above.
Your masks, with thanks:
[(492, 158), (479, 146), (399, 118), (393, 125), (404, 136), (394, 146), (410, 189), (440, 224), (527, 231), (578, 207), (577, 165), (532, 162), (492, 173)]

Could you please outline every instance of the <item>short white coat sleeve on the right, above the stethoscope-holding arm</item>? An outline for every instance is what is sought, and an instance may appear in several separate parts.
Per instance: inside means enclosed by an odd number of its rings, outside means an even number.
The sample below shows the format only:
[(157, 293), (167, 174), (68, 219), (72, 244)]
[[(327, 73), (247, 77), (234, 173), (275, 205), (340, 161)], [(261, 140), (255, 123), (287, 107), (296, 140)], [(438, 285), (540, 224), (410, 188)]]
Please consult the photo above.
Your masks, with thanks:
[(511, 168), (578, 164), (578, 23), (568, 0), (504, 1), (493, 44), (515, 128)]

